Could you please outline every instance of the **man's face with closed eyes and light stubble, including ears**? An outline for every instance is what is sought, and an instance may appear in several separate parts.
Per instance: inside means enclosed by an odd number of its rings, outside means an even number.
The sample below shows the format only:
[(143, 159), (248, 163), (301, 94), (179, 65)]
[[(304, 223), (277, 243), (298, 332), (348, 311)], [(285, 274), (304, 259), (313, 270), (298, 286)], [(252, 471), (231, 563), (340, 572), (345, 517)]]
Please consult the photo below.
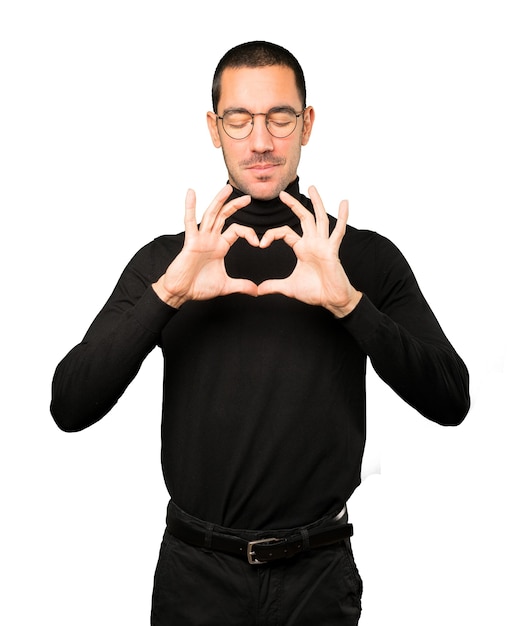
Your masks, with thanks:
[[(224, 70), (217, 115), (231, 109), (267, 113), (273, 107), (302, 111), (303, 103), (290, 68), (273, 65)], [(312, 107), (307, 107), (298, 118), (294, 132), (282, 139), (269, 133), (264, 115), (254, 118), (248, 137), (232, 139), (217, 115), (207, 113), (208, 128), (214, 146), (223, 150), (230, 184), (257, 200), (276, 198), (297, 176), (301, 147), (309, 141), (314, 121)]]

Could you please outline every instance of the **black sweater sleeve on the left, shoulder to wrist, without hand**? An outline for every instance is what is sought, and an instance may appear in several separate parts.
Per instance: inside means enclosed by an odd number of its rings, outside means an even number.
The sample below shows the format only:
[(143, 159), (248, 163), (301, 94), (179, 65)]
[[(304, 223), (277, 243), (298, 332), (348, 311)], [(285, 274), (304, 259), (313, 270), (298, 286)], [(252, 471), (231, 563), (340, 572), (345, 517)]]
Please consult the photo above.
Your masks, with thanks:
[(170, 262), (157, 265), (154, 248), (135, 255), (83, 341), (57, 366), (50, 410), (62, 430), (82, 430), (110, 411), (174, 315), (151, 287)]

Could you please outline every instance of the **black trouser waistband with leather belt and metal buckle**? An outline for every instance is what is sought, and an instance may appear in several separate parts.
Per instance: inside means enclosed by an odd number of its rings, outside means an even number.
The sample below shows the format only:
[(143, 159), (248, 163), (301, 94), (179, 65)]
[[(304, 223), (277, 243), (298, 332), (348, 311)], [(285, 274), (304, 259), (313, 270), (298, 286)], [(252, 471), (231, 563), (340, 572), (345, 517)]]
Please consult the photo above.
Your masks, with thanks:
[(297, 528), (275, 530), (235, 529), (200, 520), (172, 500), (167, 508), (167, 531), (193, 546), (225, 552), (250, 565), (287, 559), (301, 552), (338, 543), (353, 535), (346, 507)]

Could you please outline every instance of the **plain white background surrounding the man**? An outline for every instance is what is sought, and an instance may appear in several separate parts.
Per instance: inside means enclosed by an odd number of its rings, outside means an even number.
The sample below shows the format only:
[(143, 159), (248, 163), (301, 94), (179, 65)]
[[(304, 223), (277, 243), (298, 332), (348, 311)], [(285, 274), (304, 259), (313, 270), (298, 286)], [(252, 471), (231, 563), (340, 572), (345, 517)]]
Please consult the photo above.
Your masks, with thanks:
[(512, 4), (2, 3), (2, 624), (148, 623), (160, 355), (80, 434), (53, 423), (50, 382), (133, 253), (182, 230), (186, 189), (201, 211), (225, 183), (205, 112), (217, 61), (250, 39), (304, 67), (302, 190), (402, 249), (471, 373), (457, 429), (369, 374), (361, 624), (516, 623)]

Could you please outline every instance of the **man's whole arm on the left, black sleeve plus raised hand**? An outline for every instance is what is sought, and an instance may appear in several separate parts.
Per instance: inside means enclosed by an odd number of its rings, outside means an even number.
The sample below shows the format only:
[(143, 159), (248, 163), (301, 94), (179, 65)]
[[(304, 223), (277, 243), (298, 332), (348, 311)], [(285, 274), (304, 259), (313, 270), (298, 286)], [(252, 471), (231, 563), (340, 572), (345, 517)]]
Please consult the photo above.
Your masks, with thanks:
[(162, 251), (157, 261), (158, 246), (150, 244), (128, 265), (83, 341), (56, 369), (51, 413), (61, 429), (82, 430), (108, 413), (184, 302), (237, 291), (256, 295), (254, 283), (229, 278), (224, 267), (224, 257), (239, 237), (258, 245), (251, 228), (233, 224), (222, 232), (226, 218), (250, 200), (243, 196), (226, 203), (231, 191), (227, 185), (216, 196), (199, 228), (195, 195), (189, 191), (185, 240), (172, 254), (172, 263), (168, 251)]

